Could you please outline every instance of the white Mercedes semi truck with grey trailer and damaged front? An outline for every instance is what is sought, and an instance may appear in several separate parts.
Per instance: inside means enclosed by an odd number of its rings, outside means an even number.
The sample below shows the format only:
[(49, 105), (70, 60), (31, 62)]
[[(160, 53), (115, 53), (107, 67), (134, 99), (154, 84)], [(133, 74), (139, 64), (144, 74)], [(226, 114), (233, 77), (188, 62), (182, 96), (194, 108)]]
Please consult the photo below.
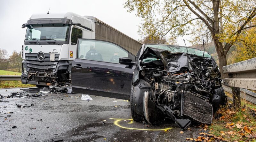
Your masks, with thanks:
[(33, 14), (22, 28), (27, 30), (21, 47), (21, 82), (37, 87), (71, 84), (77, 39), (110, 41), (134, 55), (142, 45), (93, 16), (73, 12)]

